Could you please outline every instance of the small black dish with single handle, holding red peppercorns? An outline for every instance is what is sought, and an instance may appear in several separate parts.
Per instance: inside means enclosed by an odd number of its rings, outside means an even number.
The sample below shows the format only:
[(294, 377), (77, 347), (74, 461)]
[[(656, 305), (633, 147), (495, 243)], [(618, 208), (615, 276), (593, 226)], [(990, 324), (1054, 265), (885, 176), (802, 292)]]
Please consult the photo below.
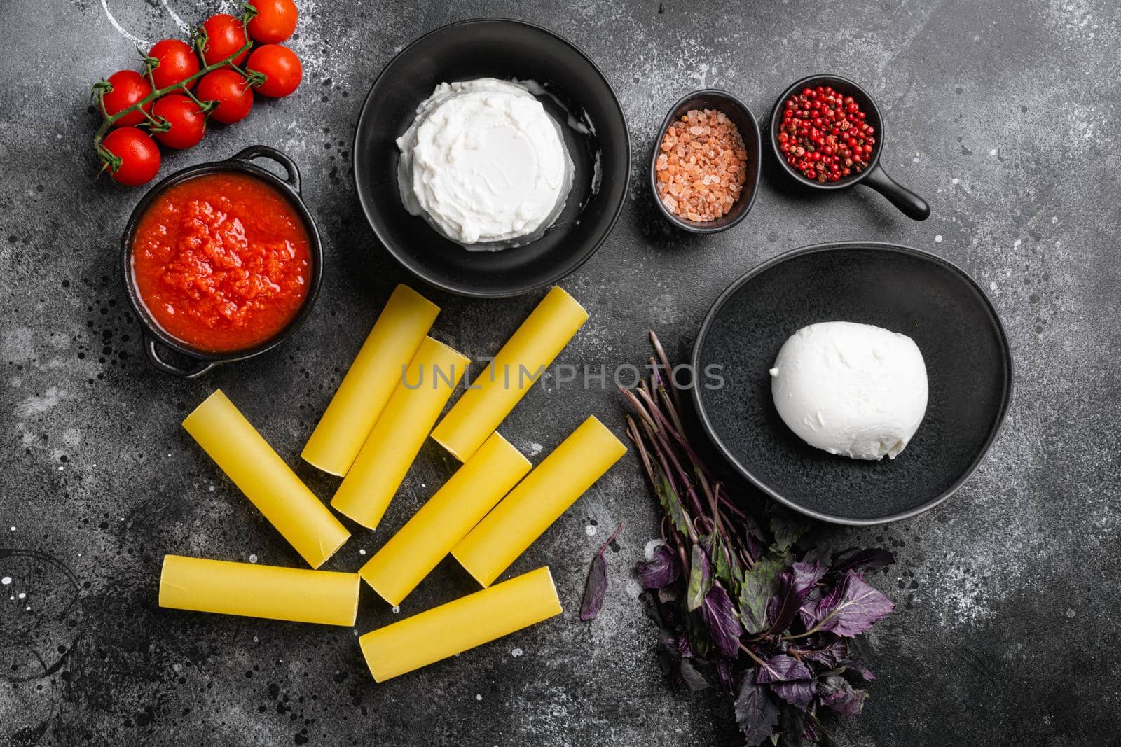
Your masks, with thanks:
[[(795, 92), (800, 92), (803, 88), (807, 87), (814, 88), (819, 85), (831, 85), (835, 91), (840, 91), (846, 96), (852, 96), (853, 100), (860, 104), (860, 110), (864, 112), (867, 118), (865, 121), (876, 128), (876, 148), (872, 150), (872, 160), (869, 162), (868, 168), (860, 174), (842, 177), (840, 181), (826, 181), (825, 184), (815, 179), (807, 179), (800, 171), (787, 164), (786, 157), (778, 148), (777, 139), (779, 127), (782, 123), (782, 108), (786, 100), (789, 99)], [(793, 179), (806, 188), (828, 192), (834, 189), (847, 189), (853, 185), (863, 184), (865, 187), (871, 187), (887, 197), (888, 202), (898, 207), (907, 217), (916, 221), (925, 221), (930, 217), (930, 206), (926, 203), (926, 200), (910, 189), (899, 185), (895, 179), (888, 176), (888, 172), (883, 170), (882, 166), (880, 166), (880, 156), (883, 153), (883, 147), (887, 143), (887, 132), (883, 127), (883, 116), (880, 114), (880, 109), (876, 105), (876, 101), (872, 100), (872, 96), (847, 78), (843, 78), (837, 75), (810, 75), (809, 77), (802, 78), (784, 91), (782, 95), (778, 97), (777, 102), (775, 102), (775, 109), (771, 111), (770, 141), (779, 166), (781, 166)]]

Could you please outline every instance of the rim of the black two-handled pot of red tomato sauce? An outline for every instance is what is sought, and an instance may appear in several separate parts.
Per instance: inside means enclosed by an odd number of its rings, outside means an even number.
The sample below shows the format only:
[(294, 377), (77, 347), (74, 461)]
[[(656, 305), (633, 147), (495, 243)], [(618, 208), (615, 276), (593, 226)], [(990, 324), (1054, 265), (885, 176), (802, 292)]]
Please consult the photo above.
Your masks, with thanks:
[[(279, 156), (285, 160), (275, 159), (271, 153), (279, 153)], [(191, 375), (186, 375), (188, 379), (193, 379), (210, 371), (214, 365), (245, 361), (277, 347), (304, 325), (307, 317), (312, 314), (312, 309), (315, 307), (315, 302), (319, 296), (319, 289), (323, 281), (323, 242), (319, 236), (318, 226), (315, 224), (315, 217), (312, 215), (312, 211), (307, 207), (307, 204), (304, 202), (300, 193), (299, 172), (293, 172), (289, 170), (289, 178), (291, 181), (287, 181), (268, 169), (257, 166), (249, 160), (254, 157), (270, 158), (286, 168), (288, 168), (289, 165), (291, 169), (296, 168), (295, 164), (291, 162), (291, 159), (289, 159), (285, 153), (269, 146), (250, 146), (249, 148), (243, 148), (229, 158), (184, 167), (164, 177), (156, 183), (155, 186), (149, 188), (147, 193), (145, 193), (143, 197), (141, 197), (132, 208), (132, 213), (129, 214), (129, 218), (124, 224), (124, 231), (121, 233), (121, 280), (124, 284), (124, 295), (129, 299), (129, 306), (136, 314), (137, 320), (143, 329), (145, 337), (149, 342), (155, 338), (155, 340), (159, 344), (193, 361), (213, 364)], [(192, 347), (186, 340), (172, 336), (158, 324), (156, 324), (155, 319), (151, 318), (151, 314), (147, 310), (143, 300), (140, 297), (140, 289), (137, 287), (136, 276), (132, 271), (132, 246), (140, 220), (143, 217), (145, 213), (148, 212), (151, 204), (167, 189), (195, 177), (231, 171), (249, 174), (250, 176), (261, 179), (280, 193), (296, 209), (304, 224), (304, 230), (307, 233), (308, 254), (312, 258), (312, 269), (308, 276), (307, 292), (304, 295), (304, 300), (300, 301), (299, 310), (296, 311), (295, 316), (288, 320), (288, 324), (285, 325), (282, 329), (277, 332), (276, 335), (262, 343), (237, 351), (201, 351)], [(149, 355), (151, 354), (149, 353)], [(157, 362), (154, 361), (154, 363)], [(164, 366), (158, 367), (163, 368)], [(185, 373), (186, 372), (183, 372), (179, 375), (185, 375)]]

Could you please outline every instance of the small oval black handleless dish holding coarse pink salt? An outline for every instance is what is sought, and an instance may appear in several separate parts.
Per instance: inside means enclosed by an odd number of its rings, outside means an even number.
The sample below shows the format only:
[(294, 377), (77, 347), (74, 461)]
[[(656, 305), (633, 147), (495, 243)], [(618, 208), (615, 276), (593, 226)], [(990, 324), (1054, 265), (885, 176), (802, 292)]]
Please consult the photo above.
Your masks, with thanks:
[[(656, 167), (658, 156), (661, 153), (661, 139), (666, 136), (666, 130), (669, 129), (670, 124), (694, 109), (715, 109), (716, 111), (724, 112), (728, 119), (732, 120), (740, 131), (740, 137), (743, 138), (743, 146), (748, 151), (748, 174), (743, 183), (743, 192), (740, 193), (740, 197), (732, 204), (732, 209), (715, 221), (697, 222), (674, 215), (661, 203), (661, 198), (658, 196), (658, 170)], [(650, 156), (650, 192), (654, 194), (654, 202), (658, 204), (658, 209), (667, 221), (678, 228), (691, 233), (719, 233), (731, 228), (747, 216), (748, 211), (751, 209), (751, 206), (756, 202), (756, 190), (759, 186), (759, 161), (761, 160), (760, 156), (762, 152), (760, 141), (759, 123), (756, 122), (754, 115), (748, 109), (747, 104), (732, 94), (716, 88), (705, 88), (685, 95), (666, 114), (666, 119), (661, 121), (661, 128), (658, 130), (658, 137), (654, 141), (654, 153)]]

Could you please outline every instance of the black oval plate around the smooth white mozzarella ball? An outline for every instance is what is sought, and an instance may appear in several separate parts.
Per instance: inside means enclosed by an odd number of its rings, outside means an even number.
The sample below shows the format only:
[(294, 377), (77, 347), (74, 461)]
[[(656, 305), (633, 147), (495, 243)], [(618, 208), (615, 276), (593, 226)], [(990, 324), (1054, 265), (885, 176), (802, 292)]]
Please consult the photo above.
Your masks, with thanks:
[[(856, 321), (910, 336), (926, 361), (926, 417), (896, 459), (861, 461), (806, 445), (779, 418), (768, 370), (795, 330)], [(978, 284), (954, 264), (895, 244), (819, 244), (763, 262), (725, 290), (693, 349), (722, 365), (694, 402), (716, 448), (765, 493), (837, 524), (881, 524), (948, 498), (976, 469), (1008, 411), (1012, 360)]]

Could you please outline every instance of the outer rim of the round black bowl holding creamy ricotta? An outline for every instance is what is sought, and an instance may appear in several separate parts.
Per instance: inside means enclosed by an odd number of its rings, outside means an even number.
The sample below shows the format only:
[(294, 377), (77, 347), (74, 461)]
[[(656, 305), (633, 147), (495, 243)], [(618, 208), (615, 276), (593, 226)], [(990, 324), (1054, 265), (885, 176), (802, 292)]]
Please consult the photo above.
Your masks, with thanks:
[[(411, 260), (409, 260), (407, 256), (402, 256), (401, 254), (399, 254), (397, 252), (397, 250), (393, 249), (390, 245), (390, 243), (386, 241), (386, 237), (382, 236), (382, 233), (378, 230), (377, 225), (374, 224), (374, 221), (373, 221), (373, 213), (374, 213), (374, 211), (373, 211), (372, 206), (369, 204), (371, 200), (367, 200), (363, 197), (362, 185), (361, 185), (361, 177), (360, 177), (361, 171), (359, 169), (359, 161), (360, 161), (360, 158), (359, 158), (359, 155), (360, 155), (359, 143), (361, 141), (361, 134), (362, 134), (362, 132), (364, 130), (369, 129), (369, 127), (370, 127), (370, 124), (367, 122), (367, 119), (369, 116), (371, 116), (370, 111), (372, 109), (372, 103), (373, 103), (373, 92), (378, 88), (378, 85), (386, 77), (387, 73), (393, 66), (393, 64), (398, 59), (400, 59), (407, 52), (411, 50), (417, 45), (420, 45), (421, 43), (424, 43), (425, 40), (427, 40), (428, 37), (434, 36), (434, 35), (436, 35), (436, 34), (438, 34), (441, 31), (446, 31), (448, 29), (456, 28), (456, 27), (460, 27), (460, 26), (488, 25), (488, 24), (515, 24), (517, 26), (524, 26), (524, 27), (530, 28), (530, 29), (532, 29), (535, 31), (540, 31), (543, 34), (546, 34), (546, 35), (548, 35), (548, 36), (557, 39), (558, 41), (560, 41), (562, 44), (564, 44), (568, 48), (571, 48), (580, 57), (582, 57), (584, 59), (584, 62), (586, 62), (589, 64), (589, 66), (592, 68), (592, 71), (594, 71), (594, 73), (603, 82), (603, 85), (606, 86), (608, 93), (611, 94), (611, 99), (610, 99), (609, 103), (613, 103), (614, 104), (614, 109), (619, 112), (619, 120), (620, 120), (620, 122), (622, 122), (622, 128), (623, 128), (623, 143), (624, 143), (624, 152), (622, 153), (622, 159), (623, 159), (623, 162), (627, 164), (627, 168), (624, 169), (624, 175), (623, 175), (622, 189), (620, 192), (620, 198), (618, 200), (618, 204), (614, 206), (614, 209), (612, 211), (611, 218), (610, 218), (610, 221), (608, 221), (608, 224), (606, 224), (606, 226), (605, 226), (602, 235), (599, 239), (596, 239), (595, 242), (592, 243), (592, 245), (587, 249), (587, 251), (584, 252), (584, 255), (581, 256), (576, 261), (575, 264), (573, 264), (572, 267), (567, 268), (564, 271), (550, 273), (547, 278), (544, 278), (541, 280), (536, 280), (531, 284), (528, 284), (528, 286), (525, 286), (525, 287), (519, 287), (519, 288), (517, 288), (515, 290), (500, 290), (500, 291), (499, 290), (495, 290), (495, 291), (479, 290), (479, 289), (471, 288), (471, 287), (462, 284), (462, 283), (445, 282), (445, 281), (432, 278), (432, 277), (429, 277), (429, 274), (427, 272), (424, 272), (419, 268), (415, 267), (414, 263), (411, 262)], [(420, 102), (417, 102), (417, 103), (420, 103)], [(363, 152), (364, 152), (364, 150), (363, 150)], [(386, 249), (386, 251), (389, 252), (390, 256), (392, 256), (395, 260), (397, 260), (398, 264), (400, 264), (401, 267), (404, 267), (406, 270), (408, 270), (409, 272), (411, 272), (414, 276), (416, 276), (420, 280), (424, 280), (429, 286), (433, 286), (434, 288), (438, 288), (441, 290), (445, 290), (445, 291), (447, 291), (450, 293), (455, 293), (456, 296), (464, 296), (464, 297), (467, 297), (467, 298), (512, 298), (512, 297), (516, 297), (516, 296), (524, 296), (526, 293), (531, 293), (531, 292), (534, 292), (536, 290), (540, 290), (541, 288), (546, 288), (548, 286), (555, 284), (558, 281), (563, 280), (564, 278), (568, 277), (569, 274), (572, 274), (573, 272), (575, 272), (576, 270), (578, 270), (581, 267), (583, 267), (583, 264), (585, 262), (587, 262), (590, 259), (592, 259), (592, 255), (595, 254), (600, 250), (600, 248), (603, 245), (603, 243), (608, 240), (608, 237), (614, 231), (615, 224), (619, 222), (619, 216), (622, 215), (623, 206), (627, 204), (627, 196), (630, 193), (630, 171), (631, 171), (631, 169), (630, 169), (630, 164), (631, 164), (630, 127), (627, 124), (627, 114), (623, 111), (622, 103), (619, 101), (619, 94), (615, 93), (614, 87), (611, 85), (611, 81), (608, 80), (608, 76), (603, 74), (603, 71), (600, 69), (600, 66), (595, 64), (595, 62), (587, 55), (587, 53), (585, 53), (583, 49), (581, 49), (578, 46), (576, 46), (576, 44), (573, 43), (567, 37), (562, 36), (560, 34), (557, 34), (556, 31), (554, 31), (552, 29), (545, 28), (544, 26), (539, 26), (537, 24), (532, 24), (530, 21), (519, 20), (519, 19), (515, 19), (515, 18), (502, 18), (502, 17), (499, 17), (499, 16), (488, 16), (488, 17), (483, 17), (483, 18), (466, 18), (466, 19), (458, 20), (458, 21), (452, 21), (451, 24), (445, 24), (443, 26), (437, 26), (434, 29), (425, 31), (424, 34), (421, 34), (420, 36), (418, 36), (417, 38), (415, 38), (413, 41), (410, 41), (407, 45), (405, 45), (401, 48), (400, 52), (398, 52), (397, 54), (395, 54), (389, 59), (389, 62), (387, 62), (386, 65), (381, 68), (381, 72), (378, 73), (377, 77), (373, 78), (373, 83), (370, 84), (370, 90), (365, 94), (365, 99), (362, 102), (362, 109), (359, 112), (358, 124), (354, 127), (354, 140), (353, 140), (353, 144), (351, 147), (351, 153), (352, 153), (351, 155), (351, 166), (352, 166), (353, 172), (354, 172), (354, 179), (353, 179), (354, 192), (358, 195), (358, 202), (359, 202), (359, 205), (362, 207), (362, 214), (365, 216), (365, 222), (370, 226), (370, 228), (373, 231), (373, 235), (377, 237), (378, 243), (380, 243)]]

